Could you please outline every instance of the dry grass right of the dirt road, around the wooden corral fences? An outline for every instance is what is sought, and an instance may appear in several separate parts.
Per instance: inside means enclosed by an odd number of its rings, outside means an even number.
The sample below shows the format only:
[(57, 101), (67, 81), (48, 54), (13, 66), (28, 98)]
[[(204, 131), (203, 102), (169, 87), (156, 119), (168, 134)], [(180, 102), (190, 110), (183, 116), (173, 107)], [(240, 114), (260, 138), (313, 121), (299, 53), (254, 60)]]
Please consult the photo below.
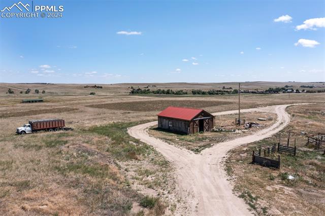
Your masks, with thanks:
[[(286, 142), (284, 139), (290, 131), (290, 146), (296, 138), (298, 153), (296, 157), (280, 154), (280, 170), (250, 164), (252, 151), (257, 151), (259, 146), (272, 146), (278, 141), (278, 135), (232, 151), (226, 170), (233, 178), (235, 191), (257, 214), (323, 214), (325, 156), (305, 147), (307, 139), (302, 132), (325, 132), (322, 131), (325, 128), (324, 107), (324, 103), (288, 107), (292, 121), (281, 131), (282, 143)], [(277, 155), (269, 157), (276, 158)], [(295, 179), (287, 179), (288, 175)]]

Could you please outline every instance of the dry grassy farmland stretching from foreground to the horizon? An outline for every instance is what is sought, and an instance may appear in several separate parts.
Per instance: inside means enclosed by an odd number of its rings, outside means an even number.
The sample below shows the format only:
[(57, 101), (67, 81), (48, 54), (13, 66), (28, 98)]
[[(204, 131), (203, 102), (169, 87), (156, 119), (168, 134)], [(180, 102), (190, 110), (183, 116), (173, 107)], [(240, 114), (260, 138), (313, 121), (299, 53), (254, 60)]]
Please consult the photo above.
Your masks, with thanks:
[[(92, 85), (92, 84), (91, 84)], [(186, 200), (177, 187), (174, 164), (152, 146), (127, 134), (127, 128), (156, 120), (156, 114), (169, 105), (190, 106), (208, 112), (236, 110), (238, 96), (234, 95), (129, 95), (129, 87), (170, 89), (213, 89), (222, 86), (236, 88), (236, 83), (218, 84), (114, 84), (87, 89), (78, 84), (1, 84), (0, 117), (0, 213), (1, 214), (180, 214), (188, 209)], [(244, 83), (243, 88), (254, 90), (315, 83)], [(5, 86), (5, 87), (3, 87)], [(16, 94), (6, 94), (11, 87)], [(31, 89), (20, 94), (20, 89)], [(35, 89), (46, 93), (36, 94)], [(17, 91), (17, 92), (16, 92)], [(95, 92), (95, 95), (89, 95)], [(297, 137), (298, 148), (305, 150), (304, 135), (320, 132), (324, 117), (324, 93), (297, 94), (242, 94), (242, 109), (291, 104), (287, 108), (291, 123), (281, 131), (291, 131)], [(22, 99), (42, 97), (42, 103), (21, 103)], [(275, 114), (245, 113), (246, 121), (269, 118), (264, 127), (242, 133), (210, 132), (194, 136), (180, 136), (151, 129), (149, 133), (169, 139), (178, 148), (208, 149), (218, 142), (253, 134), (267, 128), (276, 120)], [(62, 118), (74, 131), (39, 132), (25, 136), (15, 135), (15, 129), (31, 119)], [(227, 130), (236, 115), (216, 118), (216, 125)], [(154, 127), (152, 127), (154, 128)], [(226, 161), (234, 192), (257, 213), (287, 214), (289, 211), (278, 200), (290, 200), (297, 212), (320, 214), (323, 204), (324, 157), (312, 151), (299, 152), (297, 159), (283, 156), (280, 171), (248, 164), (251, 150), (269, 145), (278, 134), (231, 151)], [(197, 145), (199, 143), (200, 145)], [(199, 148), (200, 147), (200, 148)], [(198, 151), (199, 151), (198, 150)], [(200, 151), (201, 151), (200, 150)], [(199, 153), (200, 153), (199, 151)], [(306, 155), (305, 155), (306, 154)], [(282, 156), (281, 156), (282, 157)], [(295, 161), (299, 166), (290, 166)], [(254, 173), (254, 175), (250, 175)], [(281, 173), (296, 174), (297, 182), (282, 180)], [(270, 179), (270, 176), (275, 179)], [(284, 179), (284, 178), (283, 178)], [(310, 181), (311, 184), (308, 182)], [(254, 187), (254, 185), (257, 185)], [(268, 190), (267, 186), (272, 190)], [(264, 188), (265, 190), (259, 190)], [(244, 190), (245, 189), (245, 190)], [(284, 190), (285, 193), (282, 193)], [(319, 193), (316, 193), (318, 191)], [(308, 199), (305, 194), (308, 194)], [(251, 195), (251, 196), (250, 196)], [(278, 199), (271, 199), (271, 197)], [(258, 197), (250, 199), (249, 197)], [(270, 201), (271, 200), (271, 201)], [(309, 208), (306, 209), (308, 203)], [(273, 206), (273, 207), (271, 207)]]

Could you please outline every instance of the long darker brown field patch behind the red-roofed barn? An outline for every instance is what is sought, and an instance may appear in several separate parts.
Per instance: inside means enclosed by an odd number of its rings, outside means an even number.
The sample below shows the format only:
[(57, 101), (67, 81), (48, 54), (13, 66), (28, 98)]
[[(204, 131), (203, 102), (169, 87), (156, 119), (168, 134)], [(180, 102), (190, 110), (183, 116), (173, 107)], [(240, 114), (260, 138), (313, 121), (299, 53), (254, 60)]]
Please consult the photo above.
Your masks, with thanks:
[(205, 108), (210, 106), (218, 106), (231, 104), (227, 101), (207, 101), (207, 100), (151, 100), (151, 101), (132, 101), (117, 103), (91, 104), (88, 107), (101, 108), (108, 110), (124, 110), (124, 111), (161, 111), (168, 106), (184, 106), (193, 108)]

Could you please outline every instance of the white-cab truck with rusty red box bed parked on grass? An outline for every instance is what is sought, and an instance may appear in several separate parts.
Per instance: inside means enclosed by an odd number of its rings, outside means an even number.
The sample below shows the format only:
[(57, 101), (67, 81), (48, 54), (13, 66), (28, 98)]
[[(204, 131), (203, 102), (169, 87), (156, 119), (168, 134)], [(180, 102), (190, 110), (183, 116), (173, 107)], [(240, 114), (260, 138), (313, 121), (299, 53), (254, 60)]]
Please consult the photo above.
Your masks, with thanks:
[(31, 120), (28, 124), (22, 127), (17, 127), (17, 134), (33, 133), (37, 131), (58, 131), (58, 130), (72, 130), (72, 128), (64, 127), (63, 119), (44, 119), (44, 120)]

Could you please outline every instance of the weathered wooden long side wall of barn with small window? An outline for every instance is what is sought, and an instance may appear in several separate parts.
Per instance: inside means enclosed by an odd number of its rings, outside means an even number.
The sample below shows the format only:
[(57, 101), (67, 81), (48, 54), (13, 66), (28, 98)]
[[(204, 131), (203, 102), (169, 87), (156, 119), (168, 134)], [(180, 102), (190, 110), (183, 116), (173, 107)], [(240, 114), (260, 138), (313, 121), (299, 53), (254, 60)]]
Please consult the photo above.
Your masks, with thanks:
[[(172, 122), (172, 127), (169, 126), (169, 122)], [(189, 122), (187, 121), (158, 117), (158, 128), (187, 134), (189, 132), (188, 127)]]

